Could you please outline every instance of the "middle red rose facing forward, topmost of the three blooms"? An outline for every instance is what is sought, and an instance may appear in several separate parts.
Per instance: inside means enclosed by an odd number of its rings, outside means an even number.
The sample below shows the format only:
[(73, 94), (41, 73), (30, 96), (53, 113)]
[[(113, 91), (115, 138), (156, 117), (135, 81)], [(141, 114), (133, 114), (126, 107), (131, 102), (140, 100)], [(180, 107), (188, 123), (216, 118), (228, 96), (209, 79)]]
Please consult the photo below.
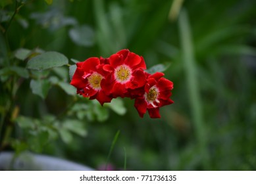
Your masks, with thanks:
[(130, 97), (128, 90), (136, 90), (145, 85), (146, 69), (143, 57), (130, 52), (128, 49), (119, 51), (109, 57), (109, 64), (103, 69), (111, 75), (102, 80), (101, 87), (111, 97)]

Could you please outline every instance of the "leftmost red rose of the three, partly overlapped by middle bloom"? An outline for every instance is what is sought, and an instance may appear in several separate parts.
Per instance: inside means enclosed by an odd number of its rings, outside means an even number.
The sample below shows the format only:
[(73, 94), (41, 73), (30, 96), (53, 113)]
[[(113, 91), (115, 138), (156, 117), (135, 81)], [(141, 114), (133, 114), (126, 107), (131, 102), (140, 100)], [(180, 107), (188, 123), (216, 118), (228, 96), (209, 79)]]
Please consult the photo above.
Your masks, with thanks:
[(111, 102), (111, 97), (107, 96), (101, 89), (101, 80), (109, 72), (103, 70), (103, 66), (108, 63), (108, 59), (91, 57), (84, 62), (76, 64), (76, 72), (70, 82), (77, 88), (77, 93), (90, 99), (97, 99), (101, 105)]

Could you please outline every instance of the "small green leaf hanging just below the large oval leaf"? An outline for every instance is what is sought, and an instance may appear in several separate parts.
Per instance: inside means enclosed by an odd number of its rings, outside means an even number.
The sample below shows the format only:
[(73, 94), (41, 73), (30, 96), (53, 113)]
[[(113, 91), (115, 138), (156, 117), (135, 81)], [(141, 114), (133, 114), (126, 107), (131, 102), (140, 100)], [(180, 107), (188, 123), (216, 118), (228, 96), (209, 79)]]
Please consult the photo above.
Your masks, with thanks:
[(45, 99), (50, 87), (51, 83), (48, 80), (30, 81), (30, 88), (32, 89), (32, 93), (39, 95), (42, 99)]

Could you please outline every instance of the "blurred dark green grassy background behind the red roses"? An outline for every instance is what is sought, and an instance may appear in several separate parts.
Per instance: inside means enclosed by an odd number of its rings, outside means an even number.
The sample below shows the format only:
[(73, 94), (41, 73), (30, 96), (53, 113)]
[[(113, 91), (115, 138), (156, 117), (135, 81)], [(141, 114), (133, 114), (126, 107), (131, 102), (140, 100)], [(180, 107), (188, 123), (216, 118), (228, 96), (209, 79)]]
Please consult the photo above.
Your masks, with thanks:
[[(23, 2), (8, 30), (10, 51), (39, 48), (83, 61), (127, 48), (143, 56), (148, 68), (170, 65), (164, 73), (174, 82), (174, 104), (161, 108), (161, 119), (148, 114), (140, 118), (130, 99), (118, 101), (125, 114), (107, 107), (97, 110), (91, 103), (94, 118), (83, 116), (88, 108), (79, 115), (86, 133), (68, 140), (70, 134), (61, 133), (63, 139), (47, 139), (38, 152), (98, 169), (106, 164), (120, 130), (109, 158), (115, 170), (124, 170), (125, 162), (127, 170), (256, 169), (256, 1)], [(15, 4), (1, 0), (1, 30), (7, 28)], [(60, 70), (68, 83), (68, 67)], [(63, 116), (69, 112), (63, 107), (74, 98), (89, 104), (58, 87), (42, 99), (29, 82), (22, 83), (14, 100), (22, 116)], [(5, 95), (1, 98), (5, 106)], [(13, 139), (24, 135), (17, 129)], [(28, 147), (22, 150), (34, 150), (33, 142), (24, 143)]]

